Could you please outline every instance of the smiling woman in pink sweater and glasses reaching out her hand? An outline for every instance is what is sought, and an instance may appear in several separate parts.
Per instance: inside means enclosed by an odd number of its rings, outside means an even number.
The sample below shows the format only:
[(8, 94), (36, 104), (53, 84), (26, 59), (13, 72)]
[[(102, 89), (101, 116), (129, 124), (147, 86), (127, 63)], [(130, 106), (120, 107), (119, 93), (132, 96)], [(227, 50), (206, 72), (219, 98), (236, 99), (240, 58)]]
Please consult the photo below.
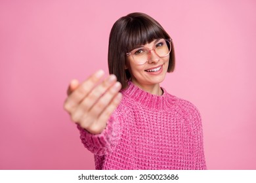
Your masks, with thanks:
[(160, 83), (175, 67), (173, 41), (153, 18), (116, 21), (110, 76), (72, 80), (64, 108), (77, 123), (96, 169), (206, 169), (200, 113)]

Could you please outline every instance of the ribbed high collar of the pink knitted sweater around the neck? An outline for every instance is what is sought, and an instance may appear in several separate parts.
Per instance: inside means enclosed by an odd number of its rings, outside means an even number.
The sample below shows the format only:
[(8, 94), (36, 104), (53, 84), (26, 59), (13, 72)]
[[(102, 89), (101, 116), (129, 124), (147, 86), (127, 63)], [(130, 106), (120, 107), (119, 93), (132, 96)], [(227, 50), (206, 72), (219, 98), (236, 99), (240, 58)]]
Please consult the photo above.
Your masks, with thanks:
[(164, 110), (170, 105), (169, 99), (171, 99), (170, 97), (172, 97), (172, 95), (169, 95), (164, 88), (161, 89), (163, 90), (163, 95), (154, 95), (142, 90), (133, 84), (133, 82), (129, 81), (127, 88), (123, 90), (122, 93), (140, 106)]

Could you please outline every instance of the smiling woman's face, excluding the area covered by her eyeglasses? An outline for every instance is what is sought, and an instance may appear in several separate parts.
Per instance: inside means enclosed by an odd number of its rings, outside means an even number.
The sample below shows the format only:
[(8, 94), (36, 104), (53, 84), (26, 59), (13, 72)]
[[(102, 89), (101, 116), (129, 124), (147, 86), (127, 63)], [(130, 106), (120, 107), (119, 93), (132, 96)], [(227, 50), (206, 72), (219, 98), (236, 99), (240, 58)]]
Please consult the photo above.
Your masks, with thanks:
[(169, 54), (160, 58), (156, 52), (152, 50), (152, 48), (158, 46), (158, 43), (161, 41), (164, 40), (158, 39), (142, 45), (151, 50), (148, 61), (143, 65), (138, 65), (132, 55), (127, 56), (125, 68), (129, 69), (131, 73), (131, 81), (143, 90), (160, 86), (160, 82), (163, 81), (167, 73)]

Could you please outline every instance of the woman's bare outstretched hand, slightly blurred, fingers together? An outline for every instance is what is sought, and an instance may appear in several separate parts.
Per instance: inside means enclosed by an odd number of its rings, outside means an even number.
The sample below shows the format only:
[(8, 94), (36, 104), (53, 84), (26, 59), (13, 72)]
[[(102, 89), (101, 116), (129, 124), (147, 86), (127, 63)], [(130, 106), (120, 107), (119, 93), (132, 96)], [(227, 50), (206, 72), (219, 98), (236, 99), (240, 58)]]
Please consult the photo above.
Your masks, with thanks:
[(101, 133), (112, 112), (121, 101), (121, 84), (115, 75), (104, 80), (104, 71), (100, 70), (79, 84), (72, 80), (68, 87), (68, 97), (64, 109), (73, 122), (93, 134)]

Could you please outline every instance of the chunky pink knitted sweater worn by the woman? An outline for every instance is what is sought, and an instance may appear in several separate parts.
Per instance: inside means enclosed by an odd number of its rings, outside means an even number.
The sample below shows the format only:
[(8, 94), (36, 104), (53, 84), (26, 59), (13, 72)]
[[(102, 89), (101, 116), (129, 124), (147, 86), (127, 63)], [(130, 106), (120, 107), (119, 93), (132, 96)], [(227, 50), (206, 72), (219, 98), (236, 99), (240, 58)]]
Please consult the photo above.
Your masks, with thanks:
[(129, 82), (102, 133), (78, 125), (96, 169), (206, 169), (200, 113), (162, 90), (152, 95)]

